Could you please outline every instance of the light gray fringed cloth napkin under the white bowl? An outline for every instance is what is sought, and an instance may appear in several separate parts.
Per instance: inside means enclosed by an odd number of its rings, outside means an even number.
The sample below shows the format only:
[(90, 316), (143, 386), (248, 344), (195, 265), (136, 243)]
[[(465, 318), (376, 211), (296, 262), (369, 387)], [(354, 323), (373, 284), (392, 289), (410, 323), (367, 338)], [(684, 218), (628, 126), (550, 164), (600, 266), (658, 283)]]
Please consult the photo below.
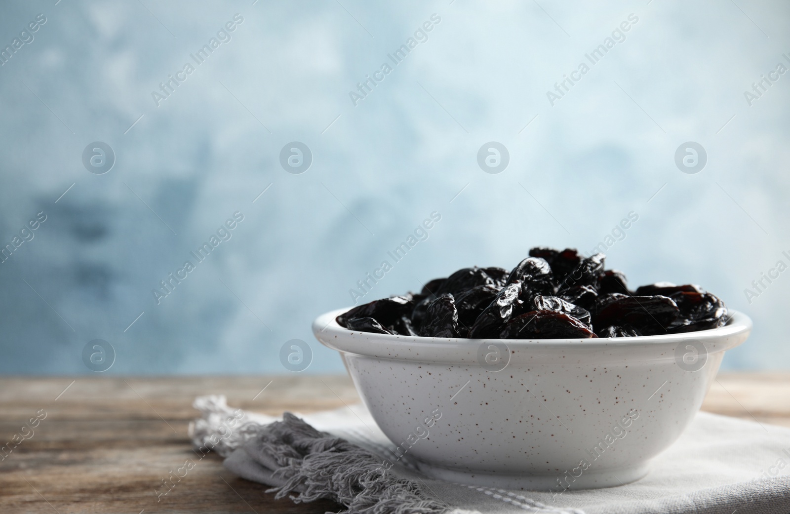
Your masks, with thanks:
[(395, 446), (360, 405), (282, 421), (234, 411), (223, 396), (194, 406), (196, 448), (280, 497), (332, 498), (348, 512), (790, 514), (790, 430), (705, 412), (638, 482), (525, 493), (427, 478), (408, 454), (382, 470)]

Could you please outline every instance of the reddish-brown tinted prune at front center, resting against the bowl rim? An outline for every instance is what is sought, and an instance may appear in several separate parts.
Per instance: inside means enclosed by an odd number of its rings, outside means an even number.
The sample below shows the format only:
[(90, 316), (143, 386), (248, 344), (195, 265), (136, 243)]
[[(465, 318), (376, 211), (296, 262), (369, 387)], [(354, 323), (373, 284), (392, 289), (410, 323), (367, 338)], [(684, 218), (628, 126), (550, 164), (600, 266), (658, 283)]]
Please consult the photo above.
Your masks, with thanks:
[(563, 339), (597, 337), (581, 321), (559, 310), (533, 310), (510, 320), (499, 332), (502, 339)]

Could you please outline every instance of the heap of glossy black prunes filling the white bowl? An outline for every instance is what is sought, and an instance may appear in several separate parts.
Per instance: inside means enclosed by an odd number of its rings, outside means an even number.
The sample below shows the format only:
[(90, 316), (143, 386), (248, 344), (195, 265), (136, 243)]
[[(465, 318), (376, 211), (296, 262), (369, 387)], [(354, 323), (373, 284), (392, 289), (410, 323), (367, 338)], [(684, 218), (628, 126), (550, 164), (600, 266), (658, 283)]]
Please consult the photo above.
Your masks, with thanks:
[(337, 323), (403, 336), (558, 339), (694, 332), (727, 320), (724, 302), (695, 285), (659, 282), (630, 291), (623, 273), (604, 269), (604, 258), (533, 248), (510, 273), (459, 269), (419, 295), (356, 306)]

